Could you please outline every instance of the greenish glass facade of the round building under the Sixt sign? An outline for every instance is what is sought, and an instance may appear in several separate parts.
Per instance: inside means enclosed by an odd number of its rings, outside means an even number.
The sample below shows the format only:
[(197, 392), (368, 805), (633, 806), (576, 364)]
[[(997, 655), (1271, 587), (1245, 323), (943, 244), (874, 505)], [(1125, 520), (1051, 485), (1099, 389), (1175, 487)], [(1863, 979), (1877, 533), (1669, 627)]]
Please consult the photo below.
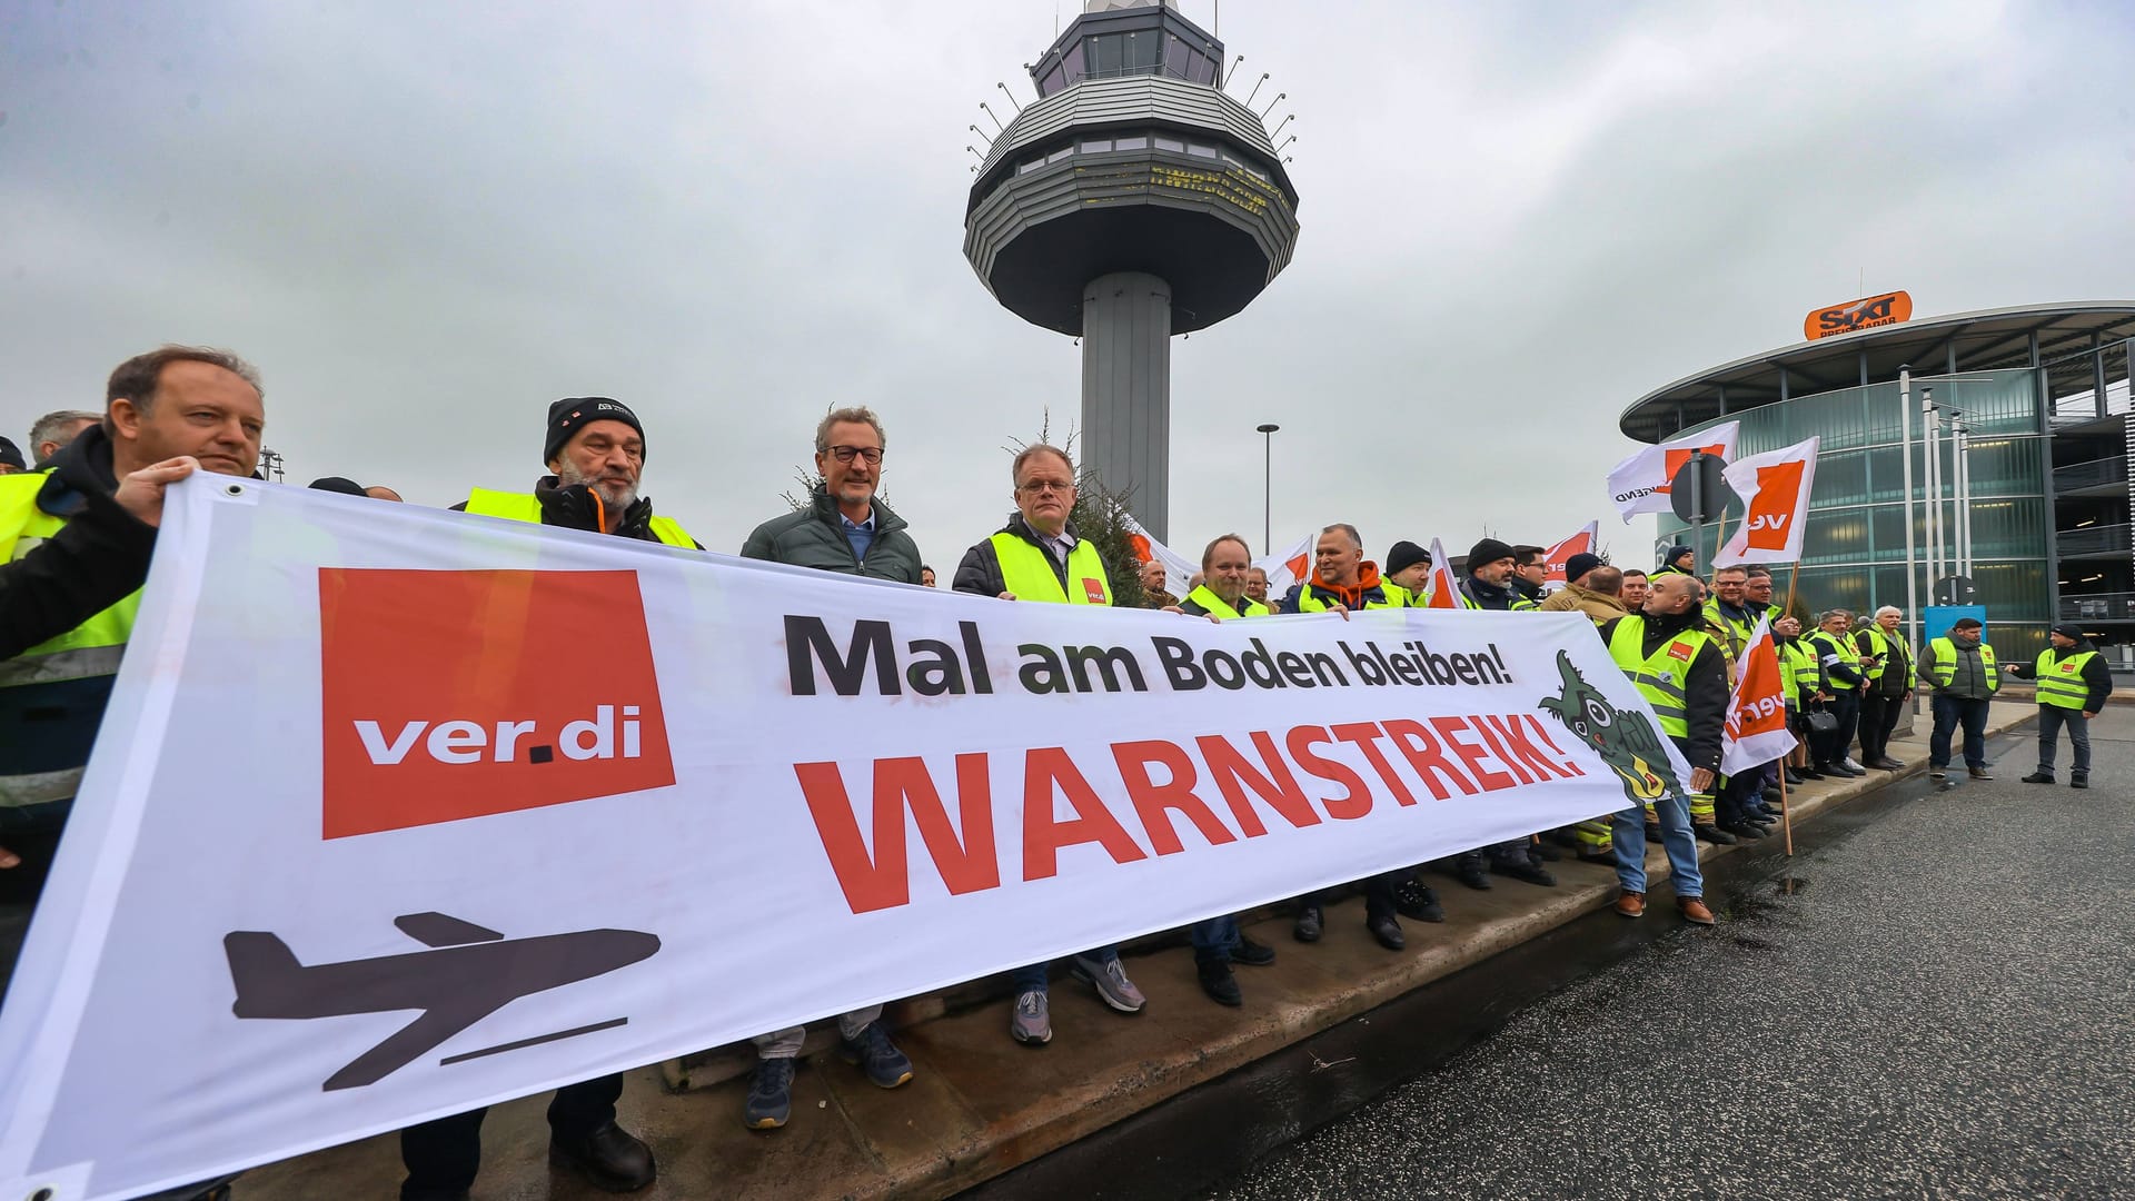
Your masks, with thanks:
[[(2003, 658), (2030, 658), (2045, 648), (2054, 622), (2052, 539), (2054, 513), (2047, 502), (2047, 455), (2052, 430), (2039, 404), (2037, 372), (1968, 372), (1951, 378), (1913, 380), (1932, 389), (1934, 404), (1962, 412), (1971, 430), (1971, 553), (1977, 603), (1988, 607), (1988, 639)], [(1915, 603), (1928, 600), (1928, 504), (1926, 449), (1913, 415), (1913, 581)], [(1719, 421), (1742, 423), (1742, 455), (1776, 451), (1821, 436), (1817, 483), (1810, 492), (1808, 532), (1802, 549), (1798, 596), (1810, 609), (1875, 611), (1879, 605), (1907, 607), (1904, 549), (1904, 459), (1900, 457), (1898, 385), (1881, 383), (1800, 395), (1764, 404)], [(1695, 430), (1695, 427), (1693, 427)], [(1954, 453), (1941, 440), (1943, 547), (1956, 545)], [(1740, 504), (1729, 524), (1740, 517)], [(1659, 519), (1661, 543), (1689, 541), (1689, 528), (1674, 515)], [(1697, 562), (1710, 562), (1721, 541), (1719, 526), (1706, 526)], [(1954, 575), (1945, 568), (1943, 575)], [(1781, 588), (1787, 586), (1781, 573)], [(1936, 635), (1941, 630), (1924, 630)]]

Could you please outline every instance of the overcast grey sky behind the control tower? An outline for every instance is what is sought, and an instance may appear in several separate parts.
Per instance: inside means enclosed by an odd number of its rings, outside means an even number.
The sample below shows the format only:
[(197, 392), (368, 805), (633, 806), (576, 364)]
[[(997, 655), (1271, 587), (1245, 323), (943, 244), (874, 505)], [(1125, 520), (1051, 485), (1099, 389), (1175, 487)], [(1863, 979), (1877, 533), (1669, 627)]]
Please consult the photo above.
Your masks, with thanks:
[[(160, 342), (267, 378), (292, 481), (448, 504), (615, 395), (713, 549), (828, 404), (950, 566), (1080, 350), (961, 252), (965, 128), (1053, 0), (0, 4), (0, 430)], [(1185, 13), (1208, 26), (1211, 0)], [(1608, 513), (1648, 389), (1907, 288), (1917, 316), (2135, 299), (2126, 4), (1230, 0), (1287, 92), (1296, 261), (1172, 344), (1172, 543), (1328, 521), (1371, 556)], [(1236, 90), (1243, 92), (1240, 83)], [(1006, 113), (1003, 113), (1006, 115)]]

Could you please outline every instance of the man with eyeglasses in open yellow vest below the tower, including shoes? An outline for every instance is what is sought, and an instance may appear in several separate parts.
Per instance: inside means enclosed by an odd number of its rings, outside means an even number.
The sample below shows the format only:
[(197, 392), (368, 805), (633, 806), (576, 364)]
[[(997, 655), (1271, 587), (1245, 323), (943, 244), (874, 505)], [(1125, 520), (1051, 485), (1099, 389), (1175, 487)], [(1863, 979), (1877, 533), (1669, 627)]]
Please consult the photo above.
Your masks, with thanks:
[[(1025, 447), (1008, 468), (1016, 511), (997, 534), (965, 551), (956, 564), (956, 592), (1001, 600), (1044, 600), (1053, 605), (1110, 605), (1112, 583), (1104, 575), (1097, 547), (1074, 528), (1074, 462), (1068, 451), (1044, 442)], [(1119, 1013), (1140, 1013), (1149, 998), (1134, 987), (1119, 964), (1119, 947), (1097, 947), (1074, 957), (1074, 974)], [(1053, 964), (1031, 964), (1012, 972), (1016, 1004), (1008, 1034), (1025, 1047), (1053, 1041), (1053, 1007), (1046, 985)]]

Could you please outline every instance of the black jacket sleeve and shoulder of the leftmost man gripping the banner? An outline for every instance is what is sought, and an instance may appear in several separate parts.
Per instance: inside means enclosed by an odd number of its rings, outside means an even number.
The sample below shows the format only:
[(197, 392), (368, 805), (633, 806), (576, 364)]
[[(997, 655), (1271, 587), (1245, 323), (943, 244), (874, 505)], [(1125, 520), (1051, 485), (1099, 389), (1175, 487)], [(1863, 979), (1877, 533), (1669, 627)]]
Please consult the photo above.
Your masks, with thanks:
[(113, 500), (111, 442), (102, 427), (81, 432), (53, 455), (36, 506), (66, 526), (0, 566), (0, 658), (32, 645), (124, 600), (147, 581), (156, 528)]

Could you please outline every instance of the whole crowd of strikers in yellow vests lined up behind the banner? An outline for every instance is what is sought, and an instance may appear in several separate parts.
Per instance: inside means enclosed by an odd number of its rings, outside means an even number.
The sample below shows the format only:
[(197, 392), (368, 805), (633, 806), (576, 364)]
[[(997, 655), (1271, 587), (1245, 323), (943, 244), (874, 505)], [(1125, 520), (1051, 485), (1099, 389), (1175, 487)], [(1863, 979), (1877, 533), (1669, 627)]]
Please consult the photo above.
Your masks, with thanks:
[[(62, 410), (36, 421), (32, 455), (0, 453), (0, 707), (9, 722), (0, 763), (0, 870), (43, 878), (73, 806), (81, 769), (100, 729), (124, 654), (139, 588), (145, 581), (164, 489), (192, 472), (246, 477), (260, 459), (265, 395), (258, 372), (226, 350), (164, 346), (137, 355), (111, 374), (102, 412)], [(698, 547), (673, 517), (640, 496), (647, 432), (638, 415), (608, 397), (570, 397), (549, 406), (542, 466), (527, 492), (472, 489), (455, 509), (468, 513)], [(741, 545), (758, 560), (935, 586), (905, 521), (880, 498), (886, 438), (869, 408), (837, 408), (813, 432), (820, 483), (798, 511), (760, 524)], [(952, 575), (967, 594), (1018, 603), (1110, 605), (1112, 581), (1095, 545), (1076, 530), (1076, 466), (1050, 444), (1027, 447), (1010, 462), (1014, 513), (1001, 530), (971, 545)], [(314, 487), (399, 500), (380, 485), (329, 477)], [(1356, 613), (1426, 603), (1437, 564), (1413, 541), (1396, 541), (1383, 564), (1364, 558), (1356, 526), (1322, 528), (1311, 571), (1270, 598), (1268, 577), (1238, 534), (1219, 534), (1200, 556), (1185, 596), (1164, 592), (1161, 564), (1144, 579), (1146, 603), (1204, 620), (1277, 620), (1285, 613)], [(1892, 733), (1915, 688), (1932, 695), (1930, 767), (1949, 774), (1951, 742), (1964, 735), (1971, 778), (1988, 778), (1983, 727), (2003, 665), (1977, 620), (1962, 620), (1917, 654), (1898, 633), (1902, 613), (1879, 609), (1855, 624), (1830, 609), (1815, 628), (1774, 605), (1764, 566), (1697, 573), (1689, 547), (1672, 547), (1652, 573), (1580, 553), (1565, 564), (1565, 586), (1546, 590), (1539, 545), (1480, 539), (1458, 564), (1458, 609), (1578, 611), (1612, 660), (1652, 707), (1661, 733), (1691, 767), (1682, 793), (1629, 806), (1563, 829), (1537, 831), (1458, 851), (1435, 863), (1383, 872), (1356, 887), (1364, 925), (1388, 951), (1403, 951), (1401, 921), (1437, 923), (1445, 908), (1426, 883), (1437, 872), (1467, 889), (1492, 878), (1554, 887), (1548, 863), (1576, 855), (1616, 870), (1616, 910), (1646, 910), (1646, 844), (1665, 848), (1678, 913), (1702, 925), (1717, 919), (1704, 902), (1697, 840), (1729, 844), (1766, 838), (1778, 821), (1781, 784), (1830, 776), (1896, 771)], [(1802, 748), (1749, 771), (1721, 771), (1731, 673), (1759, 622), (1770, 620), (1787, 709)], [(2088, 786), (2088, 718), (2112, 680), (2082, 630), (2056, 626), (2054, 645), (2011, 675), (2037, 677), (2039, 767), (2030, 782), (2054, 782), (2060, 731), (2073, 744), (2071, 784)], [(1857, 748), (1857, 757), (1855, 757)], [(28, 863), (34, 859), (34, 863)], [(0, 872), (4, 878), (6, 872)], [(1319, 942), (1332, 893), (1296, 898), (1292, 936)], [(1236, 915), (1189, 932), (1196, 974), (1219, 1004), (1243, 1004), (1232, 966), (1268, 966), (1277, 951), (1255, 942)], [(13, 962), (4, 951), (0, 966)], [(1119, 947), (1072, 955), (1070, 974), (1119, 1013), (1138, 1013), (1146, 996), (1127, 977)], [(1023, 1045), (1053, 1039), (1053, 964), (1010, 974), (1010, 1036)], [(882, 1007), (837, 1019), (841, 1058), (882, 1088), (912, 1079), (912, 1060), (895, 1045)], [(756, 1073), (743, 1107), (752, 1128), (784, 1126), (792, 1111), (794, 1064), (803, 1028), (754, 1039)], [(574, 1083), (549, 1107), (551, 1150), (559, 1165), (606, 1190), (643, 1188), (655, 1177), (651, 1150), (615, 1122), (621, 1075)], [(404, 1199), (465, 1197), (480, 1163), (483, 1111), (425, 1122), (401, 1135), (408, 1165)]]

